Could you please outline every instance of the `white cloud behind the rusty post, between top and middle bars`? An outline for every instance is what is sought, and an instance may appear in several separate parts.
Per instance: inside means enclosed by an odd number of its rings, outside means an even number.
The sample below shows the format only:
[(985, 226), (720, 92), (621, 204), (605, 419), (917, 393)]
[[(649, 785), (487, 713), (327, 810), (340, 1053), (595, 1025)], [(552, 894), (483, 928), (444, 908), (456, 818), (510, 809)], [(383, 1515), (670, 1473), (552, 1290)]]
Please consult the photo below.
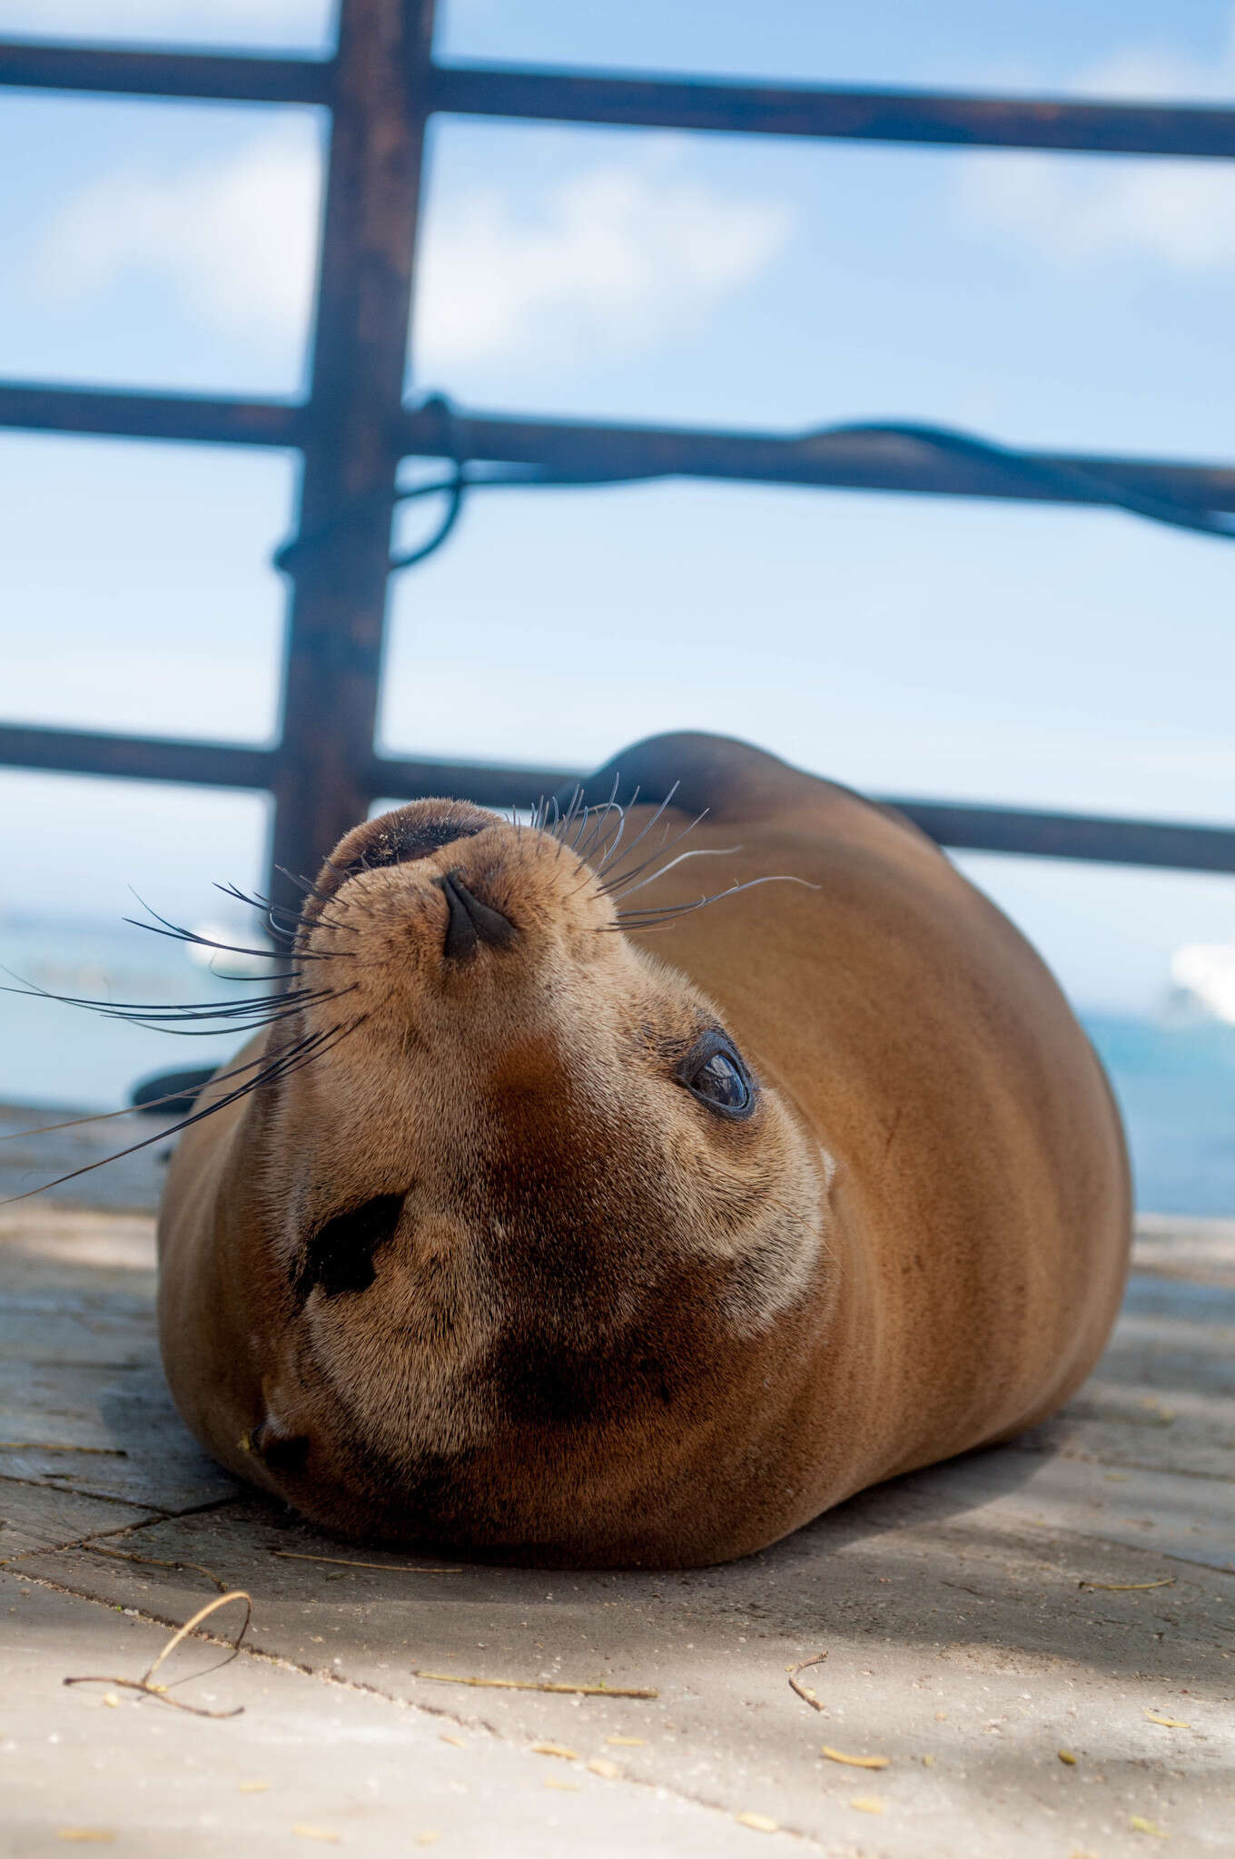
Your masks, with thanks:
[[(318, 165), (303, 123), (229, 160), (153, 164), (89, 182), (45, 229), (33, 283), (87, 305), (158, 281), (251, 342), (307, 325)], [(498, 182), (435, 199), (420, 258), (420, 372), (463, 361), (642, 348), (697, 323), (785, 245), (790, 212), (690, 178), (664, 149), (584, 169), (538, 195)]]

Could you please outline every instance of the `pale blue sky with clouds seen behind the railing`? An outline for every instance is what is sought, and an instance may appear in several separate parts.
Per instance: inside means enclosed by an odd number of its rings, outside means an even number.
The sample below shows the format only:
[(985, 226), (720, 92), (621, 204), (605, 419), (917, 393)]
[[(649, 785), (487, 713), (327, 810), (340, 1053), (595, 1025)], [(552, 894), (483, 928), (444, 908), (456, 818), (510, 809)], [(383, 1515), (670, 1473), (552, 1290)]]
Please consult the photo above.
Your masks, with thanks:
[[(0, 32), (316, 50), (316, 0), (0, 0)], [(439, 48), (1235, 97), (1235, 4), (456, 0)], [(296, 392), (312, 112), (0, 93), (0, 374)], [(409, 390), (1231, 454), (1235, 173), (446, 121)], [(294, 465), (0, 433), (11, 718), (264, 740)], [(660, 485), (500, 498), (396, 586), (383, 744), (588, 764), (724, 729), (880, 792), (1229, 820), (1235, 550), (1099, 513)], [(262, 803), (0, 771), (0, 913), (208, 913)], [(48, 857), (48, 848), (71, 848)], [(1084, 1004), (1149, 1004), (1235, 885), (973, 859)]]

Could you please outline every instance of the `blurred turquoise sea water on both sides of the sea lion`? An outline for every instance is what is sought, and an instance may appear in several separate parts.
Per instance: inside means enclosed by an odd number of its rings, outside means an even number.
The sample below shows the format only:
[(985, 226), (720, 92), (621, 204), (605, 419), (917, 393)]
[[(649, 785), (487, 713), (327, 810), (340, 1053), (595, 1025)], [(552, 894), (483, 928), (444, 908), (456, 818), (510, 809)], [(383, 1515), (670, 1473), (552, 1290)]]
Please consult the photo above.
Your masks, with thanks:
[[(229, 926), (229, 941), (253, 930)], [(0, 918), (0, 965), (50, 993), (171, 1006), (260, 991), (192, 963), (179, 943), (130, 928)], [(6, 978), (0, 976), (0, 982)], [(1177, 1015), (1081, 1011), (1120, 1099), (1136, 1205), (1235, 1216), (1235, 1026)], [(115, 1110), (153, 1071), (216, 1065), (240, 1045), (125, 1026), (46, 998), (0, 995), (0, 1102)]]

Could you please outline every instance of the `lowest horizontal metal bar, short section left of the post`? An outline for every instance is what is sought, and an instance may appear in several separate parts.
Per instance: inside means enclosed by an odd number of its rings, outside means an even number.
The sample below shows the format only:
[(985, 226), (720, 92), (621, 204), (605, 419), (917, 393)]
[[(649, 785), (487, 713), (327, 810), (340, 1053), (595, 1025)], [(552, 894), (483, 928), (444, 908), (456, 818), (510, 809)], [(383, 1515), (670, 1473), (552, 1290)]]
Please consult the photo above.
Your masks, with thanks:
[(0, 723), (0, 768), (37, 768), (50, 775), (119, 775), (126, 781), (188, 781), (206, 788), (268, 788), (275, 751), (238, 742), (180, 742)]

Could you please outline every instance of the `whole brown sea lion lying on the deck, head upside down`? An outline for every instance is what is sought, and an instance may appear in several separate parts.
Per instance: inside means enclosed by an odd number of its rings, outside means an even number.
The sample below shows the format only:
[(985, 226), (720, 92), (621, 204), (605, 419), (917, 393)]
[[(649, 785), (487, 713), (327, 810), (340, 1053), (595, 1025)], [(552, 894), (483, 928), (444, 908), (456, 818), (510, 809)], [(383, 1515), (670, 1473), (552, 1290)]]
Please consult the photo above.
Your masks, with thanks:
[[(671, 805), (614, 846), (636, 786)], [(1045, 1418), (1110, 1331), (1120, 1119), (995, 905), (738, 742), (644, 742), (610, 798), (355, 827), (199, 1108), (264, 1082), (173, 1156), (175, 1400), (335, 1532), (724, 1562)]]

